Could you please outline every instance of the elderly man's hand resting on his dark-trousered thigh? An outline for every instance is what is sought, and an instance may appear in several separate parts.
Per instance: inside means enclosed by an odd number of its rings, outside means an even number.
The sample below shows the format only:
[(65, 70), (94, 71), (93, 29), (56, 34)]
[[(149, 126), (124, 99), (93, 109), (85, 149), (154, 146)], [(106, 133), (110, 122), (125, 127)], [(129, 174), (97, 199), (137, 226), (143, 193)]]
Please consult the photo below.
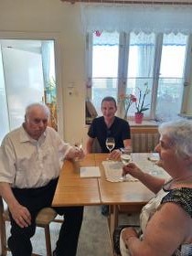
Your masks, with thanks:
[(9, 207), (13, 219), (20, 228), (26, 228), (31, 225), (31, 215), (27, 208), (20, 204)]

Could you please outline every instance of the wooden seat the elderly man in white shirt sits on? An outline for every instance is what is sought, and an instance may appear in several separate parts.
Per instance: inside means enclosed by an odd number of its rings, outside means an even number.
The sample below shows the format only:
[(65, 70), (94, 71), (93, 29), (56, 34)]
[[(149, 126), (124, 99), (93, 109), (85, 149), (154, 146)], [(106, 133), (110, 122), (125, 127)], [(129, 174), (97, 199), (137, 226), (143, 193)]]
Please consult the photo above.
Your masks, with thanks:
[[(53, 208), (42, 208), (37, 214), (37, 227), (45, 229), (45, 239), (46, 239), (46, 250), (47, 256), (52, 255), (51, 251), (51, 242), (50, 242), (50, 230), (49, 224), (51, 221), (54, 221), (57, 217), (57, 213)], [(6, 255), (7, 251), (10, 251), (7, 247), (6, 243), (6, 229), (5, 229), (5, 222), (10, 221), (9, 214), (7, 208), (5, 208), (5, 202), (3, 198), (0, 197), (0, 235), (1, 235), (1, 250), (2, 256)], [(32, 254), (38, 256), (39, 254)]]

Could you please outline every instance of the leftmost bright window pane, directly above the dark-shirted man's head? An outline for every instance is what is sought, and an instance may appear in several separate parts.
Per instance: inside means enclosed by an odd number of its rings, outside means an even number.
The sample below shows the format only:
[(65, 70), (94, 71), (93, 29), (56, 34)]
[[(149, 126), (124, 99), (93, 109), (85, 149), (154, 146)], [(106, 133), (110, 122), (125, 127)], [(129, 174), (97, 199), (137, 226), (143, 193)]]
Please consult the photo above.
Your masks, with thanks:
[(92, 99), (98, 112), (103, 97), (117, 97), (119, 34), (93, 34), (92, 48)]

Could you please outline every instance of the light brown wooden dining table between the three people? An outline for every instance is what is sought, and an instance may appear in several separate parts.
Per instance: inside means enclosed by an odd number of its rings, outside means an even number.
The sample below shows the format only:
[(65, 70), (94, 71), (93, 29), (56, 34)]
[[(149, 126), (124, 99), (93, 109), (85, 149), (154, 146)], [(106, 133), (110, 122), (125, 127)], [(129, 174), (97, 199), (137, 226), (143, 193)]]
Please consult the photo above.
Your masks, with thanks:
[[(113, 230), (118, 225), (118, 207), (126, 206), (130, 210), (142, 208), (152, 197), (154, 193), (145, 187), (138, 180), (109, 180), (106, 178), (106, 165), (115, 166), (116, 169), (122, 169), (120, 161), (107, 160), (108, 154), (88, 154), (80, 161), (65, 160), (62, 166), (58, 186), (52, 201), (52, 206), (92, 206), (109, 205), (110, 214), (108, 217), (108, 227), (110, 239), (112, 241)], [(136, 157), (137, 156), (137, 157)], [(147, 155), (143, 154), (143, 162), (140, 165), (155, 165), (145, 159)], [(141, 155), (134, 155), (134, 161), (139, 162)], [(98, 166), (100, 176), (81, 177), (80, 169), (82, 167)], [(115, 171), (115, 168), (113, 171)], [(111, 171), (110, 171), (111, 172)], [(156, 174), (155, 174), (156, 175)], [(165, 176), (163, 172), (163, 176)]]

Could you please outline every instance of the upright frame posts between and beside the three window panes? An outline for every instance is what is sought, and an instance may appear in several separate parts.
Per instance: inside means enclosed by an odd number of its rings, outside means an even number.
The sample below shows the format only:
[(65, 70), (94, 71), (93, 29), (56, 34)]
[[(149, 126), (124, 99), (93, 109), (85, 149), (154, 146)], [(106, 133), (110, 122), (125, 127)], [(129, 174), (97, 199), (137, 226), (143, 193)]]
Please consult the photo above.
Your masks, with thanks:
[[(117, 77), (117, 99), (119, 95), (125, 93), (127, 88), (127, 68), (129, 59), (129, 42), (130, 33), (120, 32), (119, 41), (119, 59), (118, 59), (118, 77)], [(92, 33), (87, 33), (86, 36), (86, 61), (87, 61), (87, 81), (90, 86), (87, 86), (87, 98), (91, 99), (91, 79), (92, 79)], [(157, 91), (158, 91), (158, 81), (160, 79), (160, 64), (161, 55), (163, 48), (163, 33), (155, 34), (155, 66), (153, 74), (153, 90), (152, 90), (152, 101), (150, 104), (150, 113), (148, 117), (144, 117), (145, 120), (155, 120), (155, 110), (157, 103)], [(187, 48), (186, 48), (186, 59), (184, 63), (184, 90), (182, 96), (182, 103), (179, 115), (185, 115), (187, 112), (187, 95), (189, 92), (189, 84), (191, 82), (190, 70), (192, 68), (191, 59), (191, 45), (192, 45), (192, 35), (188, 35)]]

